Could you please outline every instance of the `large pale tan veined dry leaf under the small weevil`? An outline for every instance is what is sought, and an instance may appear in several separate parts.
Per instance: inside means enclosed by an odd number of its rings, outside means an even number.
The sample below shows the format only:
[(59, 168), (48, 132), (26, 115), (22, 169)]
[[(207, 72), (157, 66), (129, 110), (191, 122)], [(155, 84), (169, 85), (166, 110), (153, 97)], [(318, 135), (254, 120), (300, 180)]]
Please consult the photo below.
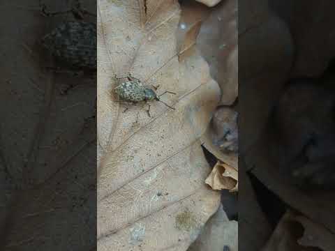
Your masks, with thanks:
[[(144, 5), (145, 4), (145, 5)], [(186, 250), (220, 203), (200, 136), (219, 99), (207, 63), (177, 56), (177, 1), (98, 1), (98, 250)], [(111, 95), (132, 73), (175, 110)]]

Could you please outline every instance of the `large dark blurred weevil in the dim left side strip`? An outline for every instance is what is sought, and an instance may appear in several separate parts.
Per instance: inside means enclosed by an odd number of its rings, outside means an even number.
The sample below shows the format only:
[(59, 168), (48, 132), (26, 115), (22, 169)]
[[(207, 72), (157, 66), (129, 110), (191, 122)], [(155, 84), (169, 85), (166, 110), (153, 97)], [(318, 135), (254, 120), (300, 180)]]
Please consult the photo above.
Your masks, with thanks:
[[(84, 15), (94, 15), (84, 10), (79, 1), (73, 3), (70, 10), (48, 13), (46, 6), (40, 3), (40, 12), (46, 17), (71, 13), (73, 21), (56, 26), (40, 40), (40, 44), (56, 59), (57, 67), (48, 67), (57, 73), (96, 73), (96, 24), (85, 22)], [(95, 16), (95, 15), (94, 15)], [(64, 70), (65, 68), (65, 70)], [(66, 93), (74, 86), (68, 86)]]

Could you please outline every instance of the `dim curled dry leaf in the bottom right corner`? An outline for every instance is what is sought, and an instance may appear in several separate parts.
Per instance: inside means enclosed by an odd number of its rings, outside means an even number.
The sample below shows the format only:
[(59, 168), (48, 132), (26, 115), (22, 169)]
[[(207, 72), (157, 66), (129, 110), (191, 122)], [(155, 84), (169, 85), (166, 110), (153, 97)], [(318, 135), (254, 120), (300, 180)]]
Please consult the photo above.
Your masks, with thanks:
[[(334, 234), (292, 211), (285, 213), (263, 251), (335, 250)], [(311, 249), (311, 247), (318, 249)]]

